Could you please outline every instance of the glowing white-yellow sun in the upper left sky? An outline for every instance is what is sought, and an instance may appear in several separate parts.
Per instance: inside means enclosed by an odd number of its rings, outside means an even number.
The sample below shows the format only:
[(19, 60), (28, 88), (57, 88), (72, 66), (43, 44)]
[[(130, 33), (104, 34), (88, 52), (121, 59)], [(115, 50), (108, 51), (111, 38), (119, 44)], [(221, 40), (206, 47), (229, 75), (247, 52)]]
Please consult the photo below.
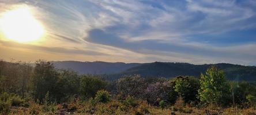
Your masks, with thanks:
[(43, 25), (33, 17), (28, 6), (3, 13), (0, 28), (6, 39), (18, 42), (36, 41), (44, 34)]

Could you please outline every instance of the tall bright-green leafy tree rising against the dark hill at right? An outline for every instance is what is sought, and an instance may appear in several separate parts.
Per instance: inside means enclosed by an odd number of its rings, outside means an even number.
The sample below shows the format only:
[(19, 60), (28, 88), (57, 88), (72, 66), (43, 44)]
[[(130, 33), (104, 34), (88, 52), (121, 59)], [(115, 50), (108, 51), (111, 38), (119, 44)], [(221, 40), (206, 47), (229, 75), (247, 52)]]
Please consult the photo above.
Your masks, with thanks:
[(212, 66), (206, 70), (206, 74), (201, 74), (200, 89), (198, 90), (200, 101), (205, 104), (225, 105), (228, 101), (229, 85), (225, 79), (224, 72)]

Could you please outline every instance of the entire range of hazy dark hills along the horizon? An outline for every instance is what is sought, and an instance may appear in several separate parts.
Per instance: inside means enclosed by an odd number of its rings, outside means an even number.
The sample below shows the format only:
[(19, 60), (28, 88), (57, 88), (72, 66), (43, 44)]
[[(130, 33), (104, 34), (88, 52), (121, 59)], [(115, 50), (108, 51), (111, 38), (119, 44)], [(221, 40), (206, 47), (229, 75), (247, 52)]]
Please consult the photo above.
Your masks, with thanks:
[(256, 81), (256, 67), (238, 64), (189, 64), (189, 63), (110, 63), (110, 62), (52, 62), (56, 68), (70, 69), (80, 74), (105, 74), (108, 79), (117, 79), (124, 75), (138, 74), (142, 77), (172, 78), (178, 75), (199, 76), (205, 73), (210, 66), (217, 66), (223, 70), (226, 77), (234, 81)]

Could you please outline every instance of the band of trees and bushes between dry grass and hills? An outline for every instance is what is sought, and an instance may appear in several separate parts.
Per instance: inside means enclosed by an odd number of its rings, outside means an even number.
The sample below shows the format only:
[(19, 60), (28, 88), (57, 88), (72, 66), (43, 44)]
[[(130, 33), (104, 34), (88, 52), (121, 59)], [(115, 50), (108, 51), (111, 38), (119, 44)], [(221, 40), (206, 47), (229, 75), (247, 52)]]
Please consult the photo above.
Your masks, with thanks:
[[(141, 99), (153, 106), (165, 108), (177, 99), (190, 106), (238, 106), (256, 104), (256, 83), (227, 81), (224, 72), (212, 66), (199, 78), (142, 78), (122, 76), (106, 81), (100, 76), (79, 75), (70, 70), (57, 70), (50, 62), (0, 62), (0, 111), (6, 106), (62, 104), (77, 99), (108, 102), (110, 99)], [(9, 100), (8, 100), (9, 96)], [(8, 105), (9, 104), (9, 105)], [(29, 104), (27, 104), (29, 106)], [(132, 104), (131, 104), (132, 105)]]

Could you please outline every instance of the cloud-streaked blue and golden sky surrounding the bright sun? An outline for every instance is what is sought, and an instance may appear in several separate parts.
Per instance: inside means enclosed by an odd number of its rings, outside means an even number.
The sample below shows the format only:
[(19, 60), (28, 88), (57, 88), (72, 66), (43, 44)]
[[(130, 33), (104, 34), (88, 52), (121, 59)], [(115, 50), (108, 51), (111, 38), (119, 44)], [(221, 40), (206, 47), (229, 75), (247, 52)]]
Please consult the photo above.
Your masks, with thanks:
[(0, 33), (3, 60), (256, 66), (255, 0), (0, 0), (0, 18), (19, 6), (46, 34), (20, 43)]

